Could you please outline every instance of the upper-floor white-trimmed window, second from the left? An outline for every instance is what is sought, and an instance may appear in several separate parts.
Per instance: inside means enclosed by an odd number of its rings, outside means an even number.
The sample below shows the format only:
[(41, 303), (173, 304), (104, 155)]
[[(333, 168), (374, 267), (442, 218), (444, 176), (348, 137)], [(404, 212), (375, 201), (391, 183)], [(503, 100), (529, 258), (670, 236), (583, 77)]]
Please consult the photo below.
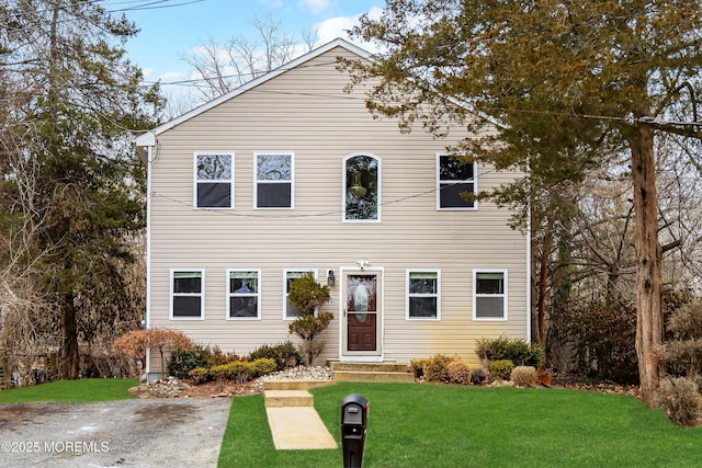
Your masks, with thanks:
[(293, 208), (293, 153), (256, 153), (257, 208)]

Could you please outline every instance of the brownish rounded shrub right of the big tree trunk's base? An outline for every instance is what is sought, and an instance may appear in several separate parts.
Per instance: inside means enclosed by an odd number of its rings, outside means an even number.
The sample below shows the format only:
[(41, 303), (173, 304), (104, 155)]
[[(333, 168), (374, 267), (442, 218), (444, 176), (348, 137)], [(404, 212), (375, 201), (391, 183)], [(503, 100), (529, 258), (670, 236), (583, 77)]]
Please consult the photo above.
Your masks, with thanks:
[(694, 426), (700, 418), (698, 385), (689, 378), (668, 377), (660, 381), (660, 404), (668, 419), (682, 426)]

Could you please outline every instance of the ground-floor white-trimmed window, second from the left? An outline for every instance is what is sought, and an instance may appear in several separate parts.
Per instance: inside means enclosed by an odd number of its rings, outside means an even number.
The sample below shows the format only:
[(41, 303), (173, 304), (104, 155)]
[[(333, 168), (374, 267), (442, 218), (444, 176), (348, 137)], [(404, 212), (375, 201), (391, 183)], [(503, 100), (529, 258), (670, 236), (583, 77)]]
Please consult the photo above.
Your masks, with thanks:
[(227, 319), (260, 319), (260, 270), (227, 270)]

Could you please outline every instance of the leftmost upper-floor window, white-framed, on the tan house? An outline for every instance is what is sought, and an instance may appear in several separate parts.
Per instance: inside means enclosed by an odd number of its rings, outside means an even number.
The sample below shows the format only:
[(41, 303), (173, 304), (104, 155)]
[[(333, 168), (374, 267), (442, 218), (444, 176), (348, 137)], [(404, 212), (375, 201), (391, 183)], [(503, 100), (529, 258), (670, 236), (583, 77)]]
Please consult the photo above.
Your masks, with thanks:
[(195, 207), (234, 207), (234, 155), (195, 153)]

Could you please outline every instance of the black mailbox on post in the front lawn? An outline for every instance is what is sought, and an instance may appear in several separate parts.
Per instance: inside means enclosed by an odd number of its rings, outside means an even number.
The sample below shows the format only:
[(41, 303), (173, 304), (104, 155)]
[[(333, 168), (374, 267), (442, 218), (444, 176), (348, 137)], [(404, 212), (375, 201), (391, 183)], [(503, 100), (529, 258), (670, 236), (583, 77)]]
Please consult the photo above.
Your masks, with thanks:
[(341, 400), (341, 446), (343, 468), (361, 468), (369, 424), (369, 400), (352, 393)]

